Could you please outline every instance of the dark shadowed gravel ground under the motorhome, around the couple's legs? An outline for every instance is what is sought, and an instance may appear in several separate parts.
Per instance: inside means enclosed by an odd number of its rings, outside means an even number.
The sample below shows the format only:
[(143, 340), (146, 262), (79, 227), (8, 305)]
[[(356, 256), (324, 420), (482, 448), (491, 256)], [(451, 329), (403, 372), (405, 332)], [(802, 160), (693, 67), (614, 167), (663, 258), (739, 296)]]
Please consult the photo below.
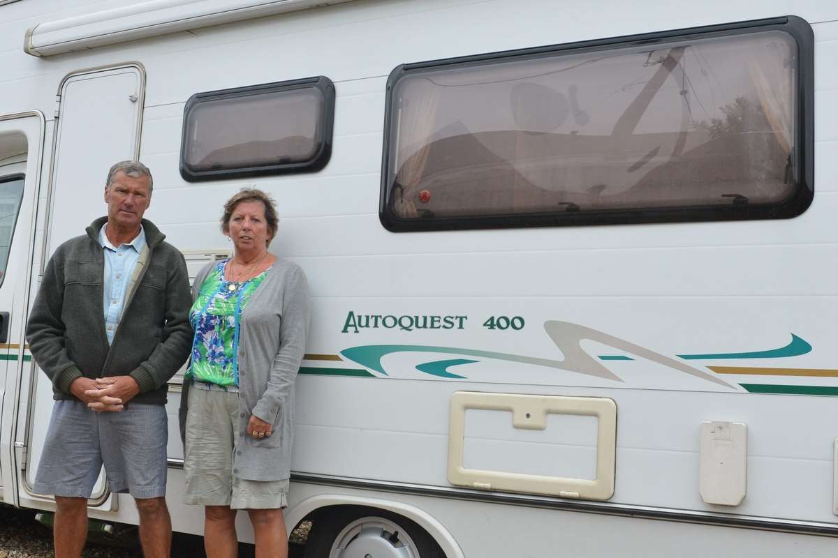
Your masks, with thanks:
[[(303, 558), (303, 543), (308, 535), (303, 523), (291, 535), (289, 558)], [(136, 540), (130, 537), (132, 540)], [(52, 533), (35, 521), (35, 512), (0, 504), (0, 558), (51, 558)], [(102, 545), (88, 540), (85, 558), (142, 558), (138, 541), (130, 547)], [(253, 556), (252, 545), (240, 545), (240, 558)], [(172, 540), (172, 558), (205, 558), (204, 540), (197, 535), (176, 534)]]

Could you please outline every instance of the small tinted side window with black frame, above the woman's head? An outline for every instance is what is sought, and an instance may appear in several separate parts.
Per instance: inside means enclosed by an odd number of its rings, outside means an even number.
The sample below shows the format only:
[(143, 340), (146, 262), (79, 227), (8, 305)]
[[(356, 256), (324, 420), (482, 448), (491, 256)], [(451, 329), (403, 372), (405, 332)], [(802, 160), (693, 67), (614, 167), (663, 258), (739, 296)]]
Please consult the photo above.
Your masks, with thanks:
[(193, 95), (184, 108), (181, 176), (318, 171), (331, 154), (333, 120), (334, 84), (324, 77)]

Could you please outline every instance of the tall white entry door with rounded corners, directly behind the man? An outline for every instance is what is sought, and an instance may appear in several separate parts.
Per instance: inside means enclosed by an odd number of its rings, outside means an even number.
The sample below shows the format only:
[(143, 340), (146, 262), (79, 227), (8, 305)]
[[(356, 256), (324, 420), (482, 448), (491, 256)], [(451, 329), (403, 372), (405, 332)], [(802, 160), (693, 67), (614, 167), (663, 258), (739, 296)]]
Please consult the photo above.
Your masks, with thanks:
[[(59, 84), (59, 108), (55, 125), (52, 176), (47, 195), (49, 215), (44, 231), (40, 269), (61, 243), (85, 233), (85, 228), (106, 214), (104, 202), (108, 169), (116, 161), (137, 159), (140, 145), (145, 71), (127, 63), (82, 69), (68, 74)], [(43, 498), (33, 494), (35, 474), (43, 453), (52, 412), (49, 379), (34, 372), (33, 391), (26, 434), (28, 460), (24, 489), (32, 499), (26, 504), (42, 507)], [(104, 474), (93, 490), (91, 506), (116, 509), (109, 498)]]

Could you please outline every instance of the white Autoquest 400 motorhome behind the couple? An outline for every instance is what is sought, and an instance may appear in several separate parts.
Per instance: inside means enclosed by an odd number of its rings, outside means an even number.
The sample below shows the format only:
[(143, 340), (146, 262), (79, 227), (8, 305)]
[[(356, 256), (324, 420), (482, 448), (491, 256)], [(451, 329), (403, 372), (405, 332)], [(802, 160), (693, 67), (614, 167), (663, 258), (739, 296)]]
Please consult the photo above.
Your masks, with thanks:
[(28, 308), (137, 158), (193, 273), (277, 199), (310, 558), (835, 556), (836, 64), (821, 0), (0, 0), (0, 498), (54, 508)]

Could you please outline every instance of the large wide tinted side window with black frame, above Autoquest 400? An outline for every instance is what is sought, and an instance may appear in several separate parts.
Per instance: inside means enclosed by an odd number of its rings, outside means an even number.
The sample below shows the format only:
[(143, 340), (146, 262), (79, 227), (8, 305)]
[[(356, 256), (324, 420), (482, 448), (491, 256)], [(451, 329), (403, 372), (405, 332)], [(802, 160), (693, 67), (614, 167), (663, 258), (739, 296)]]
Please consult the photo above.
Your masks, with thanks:
[(797, 215), (812, 198), (811, 43), (808, 23), (782, 18), (401, 66), (388, 84), (381, 221)]

